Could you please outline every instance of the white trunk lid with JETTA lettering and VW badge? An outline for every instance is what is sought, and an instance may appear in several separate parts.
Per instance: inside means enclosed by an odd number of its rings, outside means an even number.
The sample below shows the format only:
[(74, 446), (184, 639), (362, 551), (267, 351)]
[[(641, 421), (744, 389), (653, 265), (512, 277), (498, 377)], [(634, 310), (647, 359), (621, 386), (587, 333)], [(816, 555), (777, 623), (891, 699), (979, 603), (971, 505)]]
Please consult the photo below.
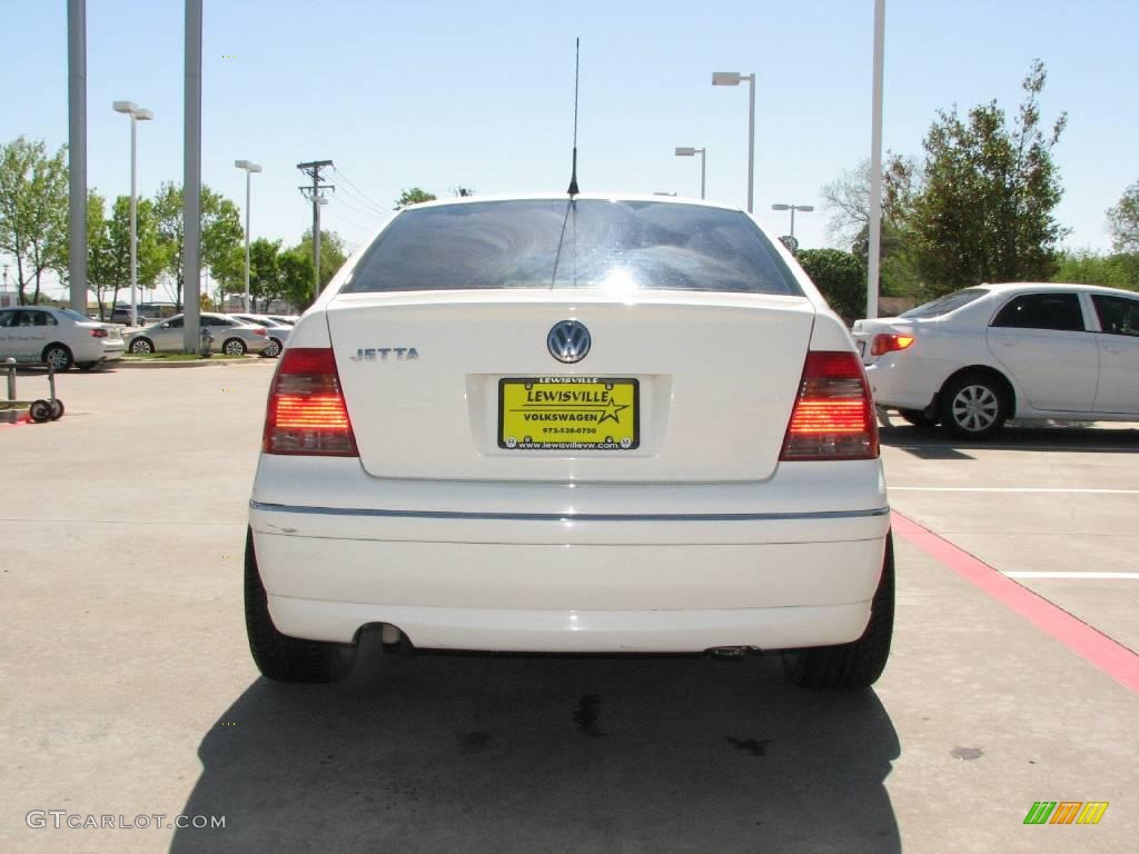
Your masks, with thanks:
[[(363, 468), (377, 477), (495, 481), (770, 477), (814, 321), (803, 297), (689, 291), (342, 294), (326, 311)], [(583, 323), (592, 342), (573, 364), (547, 344), (566, 320)], [(536, 391), (507, 388), (511, 379), (534, 380)], [(580, 414), (609, 386), (623, 395), (616, 408), (598, 403), (599, 414)], [(535, 411), (552, 412), (542, 419), (554, 427), (558, 418), (571, 426), (599, 418), (628, 438), (636, 414), (636, 441), (614, 450), (508, 446), (523, 437), (500, 429), (514, 418), (503, 409), (515, 411), (510, 401), (527, 395), (546, 408)], [(576, 402), (542, 402), (562, 399)], [(535, 430), (548, 425), (534, 419)]]

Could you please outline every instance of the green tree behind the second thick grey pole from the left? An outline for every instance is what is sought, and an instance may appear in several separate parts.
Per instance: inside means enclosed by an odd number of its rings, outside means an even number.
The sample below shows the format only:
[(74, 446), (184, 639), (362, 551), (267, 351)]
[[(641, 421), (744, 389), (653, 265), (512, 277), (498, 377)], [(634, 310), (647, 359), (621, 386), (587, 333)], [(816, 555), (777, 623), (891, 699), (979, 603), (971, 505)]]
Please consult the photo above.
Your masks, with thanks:
[[(186, 236), (182, 222), (182, 188), (166, 182), (154, 199), (158, 236), (166, 256), (166, 272), (174, 282), (174, 303), (181, 309), (185, 273), (182, 246)], [(240, 280), (244, 290), (245, 254), (241, 240), (241, 217), (237, 205), (202, 186), (202, 265), (222, 289), (235, 290)]]

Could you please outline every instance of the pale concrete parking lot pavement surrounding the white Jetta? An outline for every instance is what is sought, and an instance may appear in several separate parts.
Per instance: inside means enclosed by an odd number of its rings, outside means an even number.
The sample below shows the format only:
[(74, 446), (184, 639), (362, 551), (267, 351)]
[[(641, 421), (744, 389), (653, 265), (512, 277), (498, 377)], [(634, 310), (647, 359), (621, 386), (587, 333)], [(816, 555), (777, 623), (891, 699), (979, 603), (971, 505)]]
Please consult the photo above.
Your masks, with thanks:
[[(0, 429), (0, 851), (1133, 848), (1139, 425), (885, 428), (898, 623), (870, 691), (793, 689), (775, 656), (374, 643), (343, 683), (278, 685), (240, 583), (271, 370), (68, 373), (60, 421)], [(1109, 806), (1026, 826), (1040, 800)]]

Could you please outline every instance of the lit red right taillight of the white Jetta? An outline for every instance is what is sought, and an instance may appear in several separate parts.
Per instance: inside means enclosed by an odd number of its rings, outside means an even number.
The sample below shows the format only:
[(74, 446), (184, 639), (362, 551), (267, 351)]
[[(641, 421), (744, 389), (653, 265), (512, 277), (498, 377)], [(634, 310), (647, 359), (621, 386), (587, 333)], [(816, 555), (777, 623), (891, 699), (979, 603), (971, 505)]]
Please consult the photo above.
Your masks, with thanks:
[(872, 460), (878, 424), (862, 362), (845, 351), (811, 351), (780, 460)]

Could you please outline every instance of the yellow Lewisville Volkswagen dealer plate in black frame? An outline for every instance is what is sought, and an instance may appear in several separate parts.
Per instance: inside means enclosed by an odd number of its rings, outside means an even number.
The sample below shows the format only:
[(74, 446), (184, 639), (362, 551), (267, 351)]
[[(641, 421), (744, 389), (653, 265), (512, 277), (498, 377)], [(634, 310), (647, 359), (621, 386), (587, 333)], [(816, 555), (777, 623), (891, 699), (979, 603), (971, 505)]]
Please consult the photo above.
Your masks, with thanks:
[(499, 447), (632, 451), (640, 444), (640, 384), (613, 377), (499, 380)]

